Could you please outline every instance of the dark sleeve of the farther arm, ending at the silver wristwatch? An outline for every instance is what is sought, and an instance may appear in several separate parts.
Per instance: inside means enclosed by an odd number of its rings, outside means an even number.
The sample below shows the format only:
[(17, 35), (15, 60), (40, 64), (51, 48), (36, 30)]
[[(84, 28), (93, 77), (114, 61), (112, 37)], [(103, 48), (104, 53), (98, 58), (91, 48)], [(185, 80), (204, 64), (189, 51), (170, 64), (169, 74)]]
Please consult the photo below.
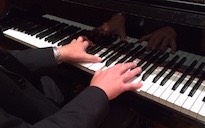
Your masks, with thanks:
[(13, 50), (9, 52), (32, 71), (57, 65), (53, 56), (53, 49), (51, 47)]

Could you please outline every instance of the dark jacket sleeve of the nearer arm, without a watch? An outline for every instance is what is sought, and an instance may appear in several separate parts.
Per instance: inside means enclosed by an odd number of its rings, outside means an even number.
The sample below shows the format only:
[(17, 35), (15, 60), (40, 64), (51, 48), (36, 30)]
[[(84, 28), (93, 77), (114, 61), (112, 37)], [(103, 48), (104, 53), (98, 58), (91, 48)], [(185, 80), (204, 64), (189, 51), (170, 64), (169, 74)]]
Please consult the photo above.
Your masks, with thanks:
[(62, 110), (34, 125), (35, 128), (97, 128), (109, 110), (104, 91), (88, 87)]

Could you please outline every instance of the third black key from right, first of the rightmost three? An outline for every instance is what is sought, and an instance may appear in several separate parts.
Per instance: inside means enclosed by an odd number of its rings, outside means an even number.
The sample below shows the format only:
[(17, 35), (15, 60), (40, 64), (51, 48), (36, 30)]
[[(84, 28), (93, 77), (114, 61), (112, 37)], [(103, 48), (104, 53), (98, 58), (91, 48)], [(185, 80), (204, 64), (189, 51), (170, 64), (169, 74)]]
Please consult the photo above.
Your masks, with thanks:
[(176, 90), (177, 87), (180, 85), (180, 83), (185, 79), (188, 73), (191, 72), (192, 69), (194, 69), (195, 65), (197, 64), (197, 60), (193, 61), (192, 64), (185, 70), (185, 72), (182, 74), (182, 76), (176, 81), (176, 83), (173, 85), (172, 90)]

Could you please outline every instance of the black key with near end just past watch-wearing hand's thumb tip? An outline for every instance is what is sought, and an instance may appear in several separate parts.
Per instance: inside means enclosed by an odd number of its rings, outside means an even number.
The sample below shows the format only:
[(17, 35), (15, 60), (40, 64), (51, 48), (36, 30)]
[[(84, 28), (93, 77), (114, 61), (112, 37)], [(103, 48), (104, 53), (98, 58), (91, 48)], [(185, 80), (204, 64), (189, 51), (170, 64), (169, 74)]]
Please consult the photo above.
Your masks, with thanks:
[(110, 59), (106, 61), (106, 66), (112, 64), (117, 58), (119, 58), (123, 53), (129, 51), (134, 47), (134, 43), (127, 43), (122, 49), (120, 49), (116, 54), (114, 54)]

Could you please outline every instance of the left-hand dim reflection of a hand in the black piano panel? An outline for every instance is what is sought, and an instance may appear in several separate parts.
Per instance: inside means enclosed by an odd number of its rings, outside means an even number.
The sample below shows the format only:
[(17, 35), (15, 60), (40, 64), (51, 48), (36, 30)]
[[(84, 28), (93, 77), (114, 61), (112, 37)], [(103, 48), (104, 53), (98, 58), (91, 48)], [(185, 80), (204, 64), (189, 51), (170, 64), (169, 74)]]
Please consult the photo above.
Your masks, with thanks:
[(125, 40), (125, 17), (121, 13), (117, 13), (108, 22), (97, 27), (96, 30), (102, 35), (118, 35), (121, 40)]

